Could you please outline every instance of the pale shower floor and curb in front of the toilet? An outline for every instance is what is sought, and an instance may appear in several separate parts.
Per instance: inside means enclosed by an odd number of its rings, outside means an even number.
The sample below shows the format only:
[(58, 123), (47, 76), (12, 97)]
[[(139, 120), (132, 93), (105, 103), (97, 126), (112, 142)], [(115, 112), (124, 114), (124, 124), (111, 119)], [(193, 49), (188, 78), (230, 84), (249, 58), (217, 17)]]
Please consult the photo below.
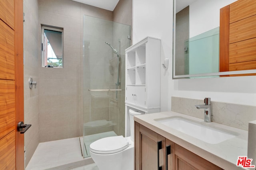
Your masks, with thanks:
[[(110, 135), (116, 136), (116, 133), (110, 131), (86, 136), (87, 152), (90, 154), (90, 143)], [(92, 158), (82, 157), (80, 141), (83, 143), (83, 137), (39, 143), (26, 170), (98, 170)]]

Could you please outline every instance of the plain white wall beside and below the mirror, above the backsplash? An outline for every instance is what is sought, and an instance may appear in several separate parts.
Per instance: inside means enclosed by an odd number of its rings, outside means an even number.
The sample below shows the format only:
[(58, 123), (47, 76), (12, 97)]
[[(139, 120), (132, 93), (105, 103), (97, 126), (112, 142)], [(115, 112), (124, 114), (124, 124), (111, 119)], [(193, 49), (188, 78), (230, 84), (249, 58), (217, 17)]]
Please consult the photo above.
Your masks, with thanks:
[(146, 36), (162, 40), (161, 111), (171, 109), (171, 96), (256, 106), (256, 76), (172, 80), (172, 1), (133, 0), (133, 44)]

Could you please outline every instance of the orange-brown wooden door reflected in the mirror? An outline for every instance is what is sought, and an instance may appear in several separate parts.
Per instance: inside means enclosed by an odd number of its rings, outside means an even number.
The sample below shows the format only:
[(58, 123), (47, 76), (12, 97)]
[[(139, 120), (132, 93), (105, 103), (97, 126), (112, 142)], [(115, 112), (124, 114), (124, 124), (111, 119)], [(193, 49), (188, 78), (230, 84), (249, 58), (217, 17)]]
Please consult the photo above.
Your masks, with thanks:
[(255, 26), (255, 0), (238, 0), (220, 9), (220, 72), (256, 69)]

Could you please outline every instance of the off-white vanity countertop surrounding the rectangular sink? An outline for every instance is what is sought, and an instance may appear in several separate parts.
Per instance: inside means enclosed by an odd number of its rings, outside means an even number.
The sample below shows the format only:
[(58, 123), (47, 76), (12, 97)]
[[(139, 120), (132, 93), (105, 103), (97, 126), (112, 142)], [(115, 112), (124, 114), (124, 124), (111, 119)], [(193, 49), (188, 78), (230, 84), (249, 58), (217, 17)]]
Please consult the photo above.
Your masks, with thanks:
[[(185, 117), (187, 119), (198, 121), (200, 123), (205, 123), (206, 125), (210, 124), (214, 127), (239, 133), (239, 135), (218, 144), (209, 144), (155, 121), (155, 119), (162, 119), (172, 116)], [(201, 156), (202, 158), (212, 162), (213, 164), (216, 164), (220, 168), (223, 168), (225, 170), (245, 169), (241, 166), (236, 166), (236, 164), (238, 156), (247, 156), (248, 131), (214, 122), (206, 123), (203, 119), (184, 115), (181, 113), (176, 113), (173, 111), (134, 116), (134, 121), (140, 123), (141, 125), (144, 125), (152, 131), (155, 131), (163, 137), (170, 139), (174, 143), (184, 147), (185, 149), (190, 150), (191, 152), (197, 154), (198, 156)], [(252, 168), (250, 169), (252, 170)]]

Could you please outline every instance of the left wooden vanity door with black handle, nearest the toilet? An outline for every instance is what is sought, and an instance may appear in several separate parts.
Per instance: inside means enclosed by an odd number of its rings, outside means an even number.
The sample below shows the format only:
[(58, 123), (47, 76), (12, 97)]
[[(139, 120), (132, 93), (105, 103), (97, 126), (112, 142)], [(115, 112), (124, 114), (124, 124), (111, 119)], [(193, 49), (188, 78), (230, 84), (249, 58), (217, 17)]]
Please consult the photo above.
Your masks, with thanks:
[(134, 127), (134, 170), (158, 170), (158, 141), (162, 141), (159, 165), (164, 170), (165, 138), (137, 122)]

